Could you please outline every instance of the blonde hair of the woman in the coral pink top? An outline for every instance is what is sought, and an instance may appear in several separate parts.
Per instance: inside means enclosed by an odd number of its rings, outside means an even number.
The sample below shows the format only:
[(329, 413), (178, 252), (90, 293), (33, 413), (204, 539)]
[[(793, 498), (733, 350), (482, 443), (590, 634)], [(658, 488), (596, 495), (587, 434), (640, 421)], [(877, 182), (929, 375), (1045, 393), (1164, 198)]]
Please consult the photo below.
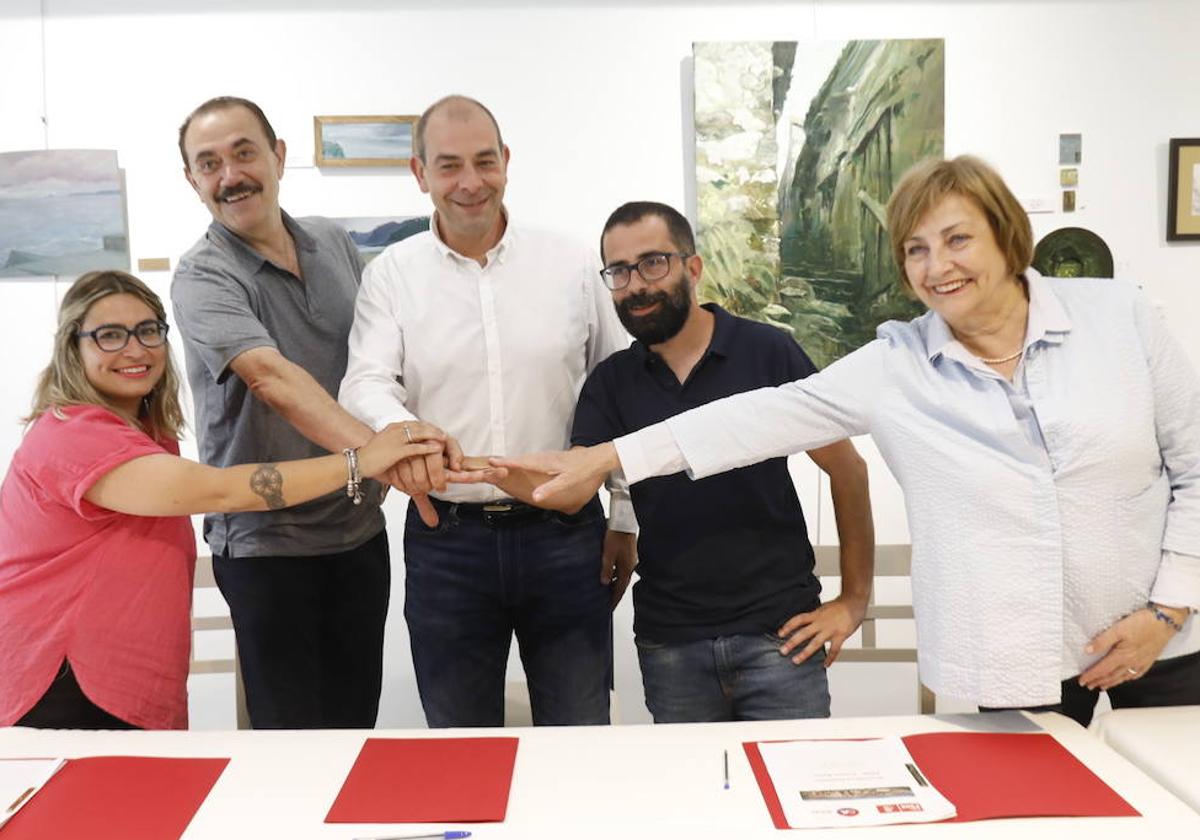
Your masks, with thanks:
[[(114, 294), (133, 295), (166, 323), (167, 312), (149, 286), (125, 271), (89, 271), (77, 280), (62, 296), (59, 306), (59, 326), (54, 334), (50, 364), (37, 379), (34, 407), (25, 422), (30, 424), (46, 412), (67, 406), (104, 406), (112, 401), (96, 390), (84, 372), (79, 355), (78, 332), (88, 312), (98, 300)], [(179, 406), (179, 373), (167, 344), (167, 367), (154, 390), (146, 395), (138, 418), (144, 431), (156, 438), (179, 439), (184, 430), (184, 412)]]

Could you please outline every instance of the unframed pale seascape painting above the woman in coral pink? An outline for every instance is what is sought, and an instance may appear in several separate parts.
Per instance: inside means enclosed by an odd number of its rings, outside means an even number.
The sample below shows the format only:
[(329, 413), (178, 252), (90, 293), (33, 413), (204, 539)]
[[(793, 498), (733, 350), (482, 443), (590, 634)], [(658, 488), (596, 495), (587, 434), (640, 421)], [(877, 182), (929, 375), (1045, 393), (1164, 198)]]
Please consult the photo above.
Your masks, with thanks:
[(0, 154), (0, 277), (130, 270), (115, 151)]

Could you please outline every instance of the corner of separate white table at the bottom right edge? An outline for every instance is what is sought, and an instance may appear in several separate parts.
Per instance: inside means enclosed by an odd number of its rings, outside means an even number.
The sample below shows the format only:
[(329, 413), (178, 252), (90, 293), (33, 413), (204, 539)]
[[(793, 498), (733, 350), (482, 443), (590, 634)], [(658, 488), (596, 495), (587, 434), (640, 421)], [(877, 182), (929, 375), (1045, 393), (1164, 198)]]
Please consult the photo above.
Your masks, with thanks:
[(1117, 709), (1100, 715), (1092, 730), (1200, 811), (1200, 706)]

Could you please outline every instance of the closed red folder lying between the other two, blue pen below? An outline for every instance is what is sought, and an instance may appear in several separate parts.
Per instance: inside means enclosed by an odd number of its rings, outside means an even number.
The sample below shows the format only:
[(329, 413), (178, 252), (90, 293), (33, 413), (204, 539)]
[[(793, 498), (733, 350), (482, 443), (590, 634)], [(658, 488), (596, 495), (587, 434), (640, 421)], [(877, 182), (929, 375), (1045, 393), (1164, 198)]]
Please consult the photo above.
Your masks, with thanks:
[(516, 738), (367, 738), (325, 822), (500, 822), (516, 757)]

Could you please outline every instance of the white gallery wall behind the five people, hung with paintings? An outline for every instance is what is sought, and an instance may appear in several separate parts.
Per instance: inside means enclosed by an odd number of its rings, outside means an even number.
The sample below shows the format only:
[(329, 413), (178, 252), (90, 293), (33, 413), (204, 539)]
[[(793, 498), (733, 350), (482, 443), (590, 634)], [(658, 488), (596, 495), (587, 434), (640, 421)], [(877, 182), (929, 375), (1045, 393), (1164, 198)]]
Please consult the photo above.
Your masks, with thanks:
[[(174, 263), (206, 224), (175, 149), (176, 126), (204, 98), (236, 94), (263, 104), (289, 144), (283, 203), (290, 212), (370, 216), (421, 212), (427, 204), (400, 170), (313, 168), (312, 116), (418, 113), (460, 91), (488, 103), (500, 120), (512, 148), (515, 217), (593, 241), (623, 200), (685, 205), (690, 198), (684, 133), (694, 41), (944, 37), (947, 152), (991, 160), (1022, 198), (1057, 199), (1057, 136), (1081, 132), (1080, 209), (1036, 215), (1036, 234), (1078, 224), (1104, 236), (1118, 275), (1147, 287), (1200, 361), (1200, 334), (1190, 325), (1200, 311), (1200, 246), (1169, 246), (1163, 234), (1166, 142), (1200, 136), (1196, 31), (1194, 0), (450, 0), (436, 8), (383, 0), (2, 0), (0, 151), (116, 149), (134, 260)], [(146, 280), (166, 295), (169, 275)], [(61, 286), (0, 286), (10, 319), (0, 466), (19, 440), (16, 418), (46, 359)], [(816, 470), (802, 463), (797, 472), (815, 539), (835, 541)], [(880, 540), (906, 541), (902, 502), (882, 466), (872, 490)], [(398, 504), (388, 512), (398, 554)], [(397, 563), (397, 583), (402, 576)], [(397, 587), (380, 721), (419, 725), (402, 596)], [(644, 719), (628, 602), (617, 622), (620, 713)], [(835, 712), (912, 710), (911, 679), (911, 670), (835, 670)]]

